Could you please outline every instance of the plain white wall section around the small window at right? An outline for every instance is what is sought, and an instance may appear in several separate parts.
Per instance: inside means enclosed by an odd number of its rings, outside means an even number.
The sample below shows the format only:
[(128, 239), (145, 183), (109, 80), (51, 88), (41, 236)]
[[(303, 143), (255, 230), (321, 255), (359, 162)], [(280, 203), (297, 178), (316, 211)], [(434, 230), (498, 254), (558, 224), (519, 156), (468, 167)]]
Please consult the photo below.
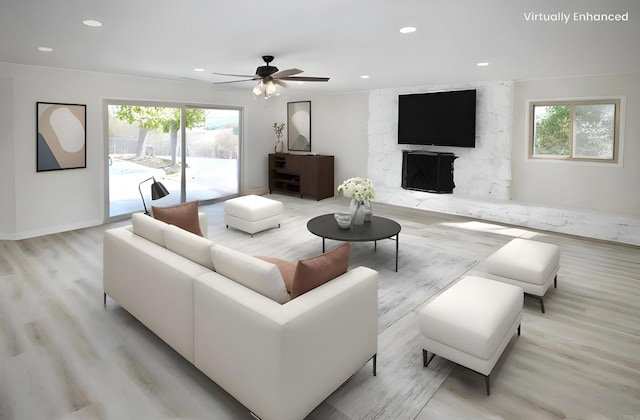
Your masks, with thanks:
[[(528, 103), (538, 99), (626, 99), (623, 165), (527, 159)], [(625, 111), (625, 110), (623, 110)], [(512, 198), (640, 216), (640, 73), (517, 82), (514, 100)]]

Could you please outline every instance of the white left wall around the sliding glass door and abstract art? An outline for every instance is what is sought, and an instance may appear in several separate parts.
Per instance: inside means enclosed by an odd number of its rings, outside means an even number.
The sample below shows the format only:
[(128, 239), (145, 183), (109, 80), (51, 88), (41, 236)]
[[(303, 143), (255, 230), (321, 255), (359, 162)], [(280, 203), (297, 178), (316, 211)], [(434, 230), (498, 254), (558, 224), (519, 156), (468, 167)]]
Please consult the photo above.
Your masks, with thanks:
[[(241, 188), (252, 190), (265, 185), (266, 155), (272, 109), (240, 90), (217, 90), (212, 85), (100, 73), (68, 71), (0, 63), (0, 110), (12, 110), (7, 125), (3, 112), (0, 142), (2, 155), (14, 157), (13, 167), (3, 164), (3, 218), (0, 233), (5, 239), (19, 239), (79, 227), (101, 224), (104, 215), (105, 155), (102, 101), (108, 98), (158, 100), (190, 104), (244, 106), (244, 171)], [(7, 82), (6, 80), (9, 80)], [(13, 97), (4, 95), (13, 85)], [(87, 105), (87, 168), (36, 172), (36, 102), (63, 102)], [(13, 133), (11, 134), (11, 131)], [(9, 135), (7, 135), (9, 133)], [(11, 150), (13, 147), (13, 150)], [(6, 160), (2, 158), (2, 163)], [(9, 185), (7, 185), (9, 184)], [(4, 193), (7, 192), (5, 196)], [(15, 215), (15, 217), (12, 217)], [(13, 220), (12, 220), (13, 219)], [(6, 222), (5, 220), (8, 220)]]

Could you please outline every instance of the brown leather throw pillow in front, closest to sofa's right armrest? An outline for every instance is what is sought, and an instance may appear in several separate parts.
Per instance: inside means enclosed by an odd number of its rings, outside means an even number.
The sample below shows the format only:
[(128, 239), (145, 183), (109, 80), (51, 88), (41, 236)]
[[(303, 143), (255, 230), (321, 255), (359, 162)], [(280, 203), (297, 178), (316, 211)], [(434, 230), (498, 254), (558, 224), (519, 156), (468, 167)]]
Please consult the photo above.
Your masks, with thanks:
[(293, 276), (291, 299), (346, 273), (350, 253), (351, 243), (346, 242), (324, 254), (298, 261)]

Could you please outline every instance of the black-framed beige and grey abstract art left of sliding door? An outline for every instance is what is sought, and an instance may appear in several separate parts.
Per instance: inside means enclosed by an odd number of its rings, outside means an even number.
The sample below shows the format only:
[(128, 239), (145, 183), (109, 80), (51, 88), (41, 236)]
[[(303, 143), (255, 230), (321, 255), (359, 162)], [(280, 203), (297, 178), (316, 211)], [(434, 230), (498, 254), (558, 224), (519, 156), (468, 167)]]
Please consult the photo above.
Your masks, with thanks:
[(87, 167), (87, 106), (36, 103), (36, 170)]

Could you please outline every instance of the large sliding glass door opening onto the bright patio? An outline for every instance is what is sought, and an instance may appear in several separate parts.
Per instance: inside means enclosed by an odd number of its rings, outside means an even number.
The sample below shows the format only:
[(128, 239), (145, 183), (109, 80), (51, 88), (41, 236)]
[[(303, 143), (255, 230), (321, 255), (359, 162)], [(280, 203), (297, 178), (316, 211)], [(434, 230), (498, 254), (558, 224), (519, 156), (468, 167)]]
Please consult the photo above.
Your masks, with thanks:
[[(240, 109), (112, 102), (106, 114), (110, 218), (238, 194)], [(168, 196), (152, 201), (154, 180)]]

